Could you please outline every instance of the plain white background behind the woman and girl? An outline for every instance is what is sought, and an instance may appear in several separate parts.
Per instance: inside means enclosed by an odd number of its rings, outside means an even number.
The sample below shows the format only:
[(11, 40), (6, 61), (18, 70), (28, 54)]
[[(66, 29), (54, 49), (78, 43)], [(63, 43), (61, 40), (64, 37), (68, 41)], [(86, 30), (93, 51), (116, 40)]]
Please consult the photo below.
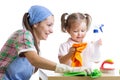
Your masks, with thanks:
[[(60, 30), (62, 13), (82, 12), (92, 16), (92, 25), (104, 24), (102, 60), (112, 59), (120, 64), (120, 11), (119, 0), (2, 0), (0, 1), (0, 48), (13, 31), (22, 28), (22, 17), (30, 6), (37, 4), (50, 9), (55, 16), (54, 33), (41, 41), (41, 55), (58, 62), (60, 43), (69, 35)], [(88, 32), (91, 35), (91, 31)], [(91, 37), (87, 36), (87, 40)]]

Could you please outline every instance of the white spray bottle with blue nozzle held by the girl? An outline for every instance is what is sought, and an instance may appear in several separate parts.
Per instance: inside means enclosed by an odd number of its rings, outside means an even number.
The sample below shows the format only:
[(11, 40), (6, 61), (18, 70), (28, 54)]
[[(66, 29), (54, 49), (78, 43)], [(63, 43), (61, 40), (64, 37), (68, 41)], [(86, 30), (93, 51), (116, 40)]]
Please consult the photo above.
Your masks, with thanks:
[(100, 51), (100, 44), (98, 42), (98, 40), (102, 40), (102, 33), (103, 33), (103, 30), (102, 30), (102, 27), (104, 25), (101, 24), (99, 25), (98, 27), (95, 27), (93, 29), (93, 41), (92, 41), (92, 44), (93, 44), (93, 55), (92, 55), (92, 59), (95, 63), (99, 62), (100, 61), (100, 57), (101, 57), (101, 51)]

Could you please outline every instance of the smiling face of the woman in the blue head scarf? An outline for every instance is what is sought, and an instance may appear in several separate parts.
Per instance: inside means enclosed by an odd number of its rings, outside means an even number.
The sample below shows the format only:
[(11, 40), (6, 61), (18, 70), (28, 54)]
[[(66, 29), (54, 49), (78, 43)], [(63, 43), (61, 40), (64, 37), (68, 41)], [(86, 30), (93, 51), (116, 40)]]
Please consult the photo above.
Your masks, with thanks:
[(46, 40), (50, 33), (53, 33), (54, 16), (49, 16), (44, 21), (34, 25), (34, 32), (37, 40)]

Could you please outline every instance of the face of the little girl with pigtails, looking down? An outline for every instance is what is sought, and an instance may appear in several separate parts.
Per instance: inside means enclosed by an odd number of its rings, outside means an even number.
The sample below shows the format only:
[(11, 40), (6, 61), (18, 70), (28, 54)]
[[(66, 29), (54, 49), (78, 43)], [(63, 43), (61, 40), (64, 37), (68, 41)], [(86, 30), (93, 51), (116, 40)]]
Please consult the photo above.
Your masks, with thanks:
[(77, 43), (80, 43), (83, 41), (86, 32), (87, 32), (87, 26), (86, 23), (83, 21), (81, 23), (73, 23), (71, 25), (71, 28), (68, 30), (71, 39)]

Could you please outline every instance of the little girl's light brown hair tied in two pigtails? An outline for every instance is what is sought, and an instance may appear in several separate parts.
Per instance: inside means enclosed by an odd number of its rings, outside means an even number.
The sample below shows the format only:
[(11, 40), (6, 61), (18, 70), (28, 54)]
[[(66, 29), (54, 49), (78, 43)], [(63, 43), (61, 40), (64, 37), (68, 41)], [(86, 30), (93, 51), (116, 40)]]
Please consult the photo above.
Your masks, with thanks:
[(83, 14), (83, 13), (72, 13), (68, 15), (68, 13), (63, 13), (61, 16), (61, 30), (62, 32), (67, 32), (67, 29), (70, 29), (71, 24), (75, 21), (79, 21), (80, 23), (82, 21), (86, 22), (87, 30), (89, 30), (89, 27), (91, 25), (92, 18), (89, 14)]

